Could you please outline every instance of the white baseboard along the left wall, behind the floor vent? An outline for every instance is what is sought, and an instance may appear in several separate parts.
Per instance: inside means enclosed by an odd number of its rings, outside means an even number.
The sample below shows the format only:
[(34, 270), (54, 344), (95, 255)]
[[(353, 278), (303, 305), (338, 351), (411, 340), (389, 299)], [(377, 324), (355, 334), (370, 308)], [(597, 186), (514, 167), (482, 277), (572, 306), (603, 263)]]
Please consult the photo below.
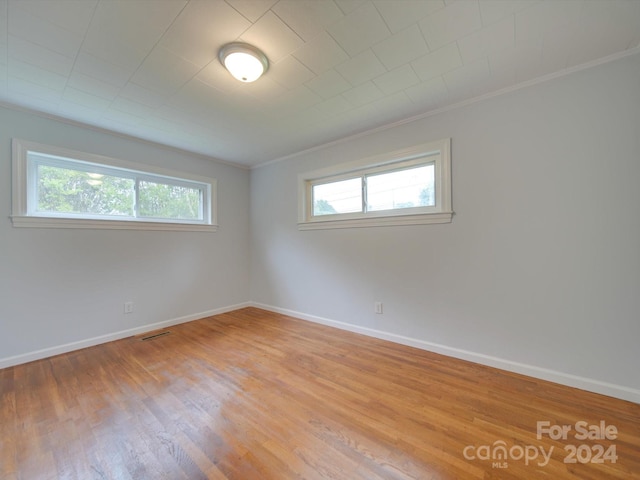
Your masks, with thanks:
[(148, 325), (143, 325), (141, 327), (136, 327), (136, 328), (130, 328), (128, 330), (121, 330), (119, 332), (108, 333), (106, 335), (100, 335), (98, 337), (88, 338), (86, 340), (80, 340), (78, 342), (65, 343), (64, 345), (44, 348), (42, 350), (36, 350), (34, 352), (15, 355), (13, 357), (0, 358), (0, 368), (12, 367), (14, 365), (33, 362), (34, 360), (53, 357), (54, 355), (60, 355), (61, 353), (80, 350), (81, 348), (93, 347), (94, 345), (112, 342), (114, 340), (120, 340), (122, 338), (131, 337), (133, 335), (140, 335), (141, 333), (150, 332), (152, 330), (159, 330), (161, 328), (170, 327), (172, 325), (178, 325), (180, 323), (191, 322), (193, 320), (199, 320), (201, 318), (211, 317), (213, 315), (219, 315), (221, 313), (231, 312), (233, 310), (238, 310), (239, 308), (248, 307), (250, 305), (251, 304), (249, 302), (239, 303), (237, 305), (230, 305), (227, 307), (216, 308), (213, 310), (208, 310), (206, 312), (186, 315), (184, 317), (172, 318), (169, 320), (164, 320), (162, 322), (150, 323)]

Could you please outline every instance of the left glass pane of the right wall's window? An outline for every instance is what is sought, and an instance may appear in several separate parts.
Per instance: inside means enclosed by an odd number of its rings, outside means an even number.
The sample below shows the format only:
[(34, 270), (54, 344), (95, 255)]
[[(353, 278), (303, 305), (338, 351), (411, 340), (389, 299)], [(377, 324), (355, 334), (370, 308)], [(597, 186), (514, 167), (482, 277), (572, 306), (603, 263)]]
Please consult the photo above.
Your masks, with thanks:
[(313, 186), (313, 215), (362, 211), (362, 178)]

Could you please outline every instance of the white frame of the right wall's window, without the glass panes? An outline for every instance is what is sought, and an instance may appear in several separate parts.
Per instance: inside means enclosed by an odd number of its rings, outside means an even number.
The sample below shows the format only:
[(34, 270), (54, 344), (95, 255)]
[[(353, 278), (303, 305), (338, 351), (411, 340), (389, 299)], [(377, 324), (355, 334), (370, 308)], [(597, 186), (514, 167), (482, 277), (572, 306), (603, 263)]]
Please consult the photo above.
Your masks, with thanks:
[[(313, 215), (313, 186), (433, 163), (435, 206), (396, 208), (382, 211)], [(378, 227), (450, 223), (451, 139), (445, 138), (409, 148), (367, 157), (298, 175), (298, 229)]]

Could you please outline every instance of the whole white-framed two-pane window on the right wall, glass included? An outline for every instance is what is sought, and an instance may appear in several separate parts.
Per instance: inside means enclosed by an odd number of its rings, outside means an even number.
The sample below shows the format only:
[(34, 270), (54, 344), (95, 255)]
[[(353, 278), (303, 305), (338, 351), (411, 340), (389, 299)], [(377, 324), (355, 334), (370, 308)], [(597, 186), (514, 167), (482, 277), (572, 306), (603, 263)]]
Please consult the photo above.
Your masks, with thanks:
[(299, 177), (301, 230), (449, 223), (450, 139)]

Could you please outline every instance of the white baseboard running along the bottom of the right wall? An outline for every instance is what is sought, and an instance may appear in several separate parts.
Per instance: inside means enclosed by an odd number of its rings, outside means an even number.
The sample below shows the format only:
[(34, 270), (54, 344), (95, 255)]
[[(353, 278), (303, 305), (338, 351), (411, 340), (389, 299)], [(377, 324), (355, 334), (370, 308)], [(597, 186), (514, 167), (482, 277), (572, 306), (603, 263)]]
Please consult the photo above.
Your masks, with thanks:
[(274, 307), (272, 305), (265, 305), (262, 303), (251, 302), (251, 306), (268, 310), (271, 312), (281, 313), (283, 315), (289, 315), (291, 317), (300, 318), (314, 323), (320, 323), (330, 327), (339, 328), (341, 330), (347, 330), (354, 333), (360, 333), (369, 337), (379, 338), (381, 340), (389, 340), (394, 343), (407, 345), (410, 347), (420, 348), (429, 352), (439, 353), (448, 357), (459, 358), (461, 360), (468, 360), (470, 362), (479, 363), (481, 365), (487, 365), (489, 367), (499, 368), (508, 372), (519, 373), (527, 375), (529, 377), (539, 378), (541, 380), (547, 380), (568, 387), (579, 388), (588, 392), (599, 393), (601, 395), (607, 395), (621, 400), (627, 400), (629, 402), (640, 404), (640, 390), (625, 387), (623, 385), (616, 385), (613, 383), (602, 382), (600, 380), (594, 380), (591, 378), (580, 377), (569, 373), (558, 372), (547, 368), (536, 367), (535, 365), (527, 365), (524, 363), (514, 362), (504, 358), (492, 357), (490, 355), (484, 355), (482, 353), (470, 352), (468, 350), (462, 350), (459, 348), (449, 347), (446, 345), (440, 345), (437, 343), (427, 342), (416, 338), (405, 337), (395, 333), (389, 333), (382, 330), (375, 330), (373, 328), (360, 327), (350, 323), (339, 322), (336, 320), (330, 320), (315, 315), (307, 315), (302, 312), (296, 312), (286, 308)]

